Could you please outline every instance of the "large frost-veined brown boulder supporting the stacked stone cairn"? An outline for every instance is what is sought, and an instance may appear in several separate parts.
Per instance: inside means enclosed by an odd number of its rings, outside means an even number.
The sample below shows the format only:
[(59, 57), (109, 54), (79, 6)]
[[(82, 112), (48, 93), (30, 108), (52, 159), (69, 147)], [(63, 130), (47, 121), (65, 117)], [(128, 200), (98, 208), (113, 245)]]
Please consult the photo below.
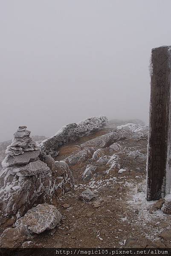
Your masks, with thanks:
[(2, 179), (6, 179), (0, 189), (0, 214), (17, 218), (32, 208), (35, 203), (49, 201), (52, 196), (52, 175), (42, 172), (33, 176), (18, 177), (9, 175), (8, 171)]

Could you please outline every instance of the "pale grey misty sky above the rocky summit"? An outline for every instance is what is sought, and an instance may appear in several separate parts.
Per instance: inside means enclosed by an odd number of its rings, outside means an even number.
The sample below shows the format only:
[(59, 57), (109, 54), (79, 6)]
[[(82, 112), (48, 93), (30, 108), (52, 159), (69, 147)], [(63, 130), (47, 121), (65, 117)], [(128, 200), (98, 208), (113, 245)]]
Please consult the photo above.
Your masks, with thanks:
[(170, 0), (0, 0), (0, 141), (100, 114), (148, 122), (151, 48)]

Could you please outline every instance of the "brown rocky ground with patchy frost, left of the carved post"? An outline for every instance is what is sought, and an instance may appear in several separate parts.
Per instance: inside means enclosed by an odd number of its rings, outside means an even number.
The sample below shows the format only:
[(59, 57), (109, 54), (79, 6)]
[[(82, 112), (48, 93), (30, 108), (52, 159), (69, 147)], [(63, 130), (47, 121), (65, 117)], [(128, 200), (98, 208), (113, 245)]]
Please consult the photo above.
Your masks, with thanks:
[[(129, 134), (137, 127), (123, 125), (119, 129)], [(147, 126), (139, 131), (143, 129), (147, 131)], [(112, 146), (109, 143), (93, 157), (92, 152), (86, 153), (88, 157), (78, 154), (81, 148), (95, 150), (97, 141), (92, 139), (113, 131), (114, 128), (103, 128), (60, 148), (56, 160), (65, 159), (69, 164), (75, 189), (53, 198), (63, 215), (61, 226), (35, 237), (36, 243), (45, 247), (171, 247), (170, 215), (161, 211), (162, 204), (160, 209), (151, 210), (154, 202), (145, 200), (147, 137), (134, 136)], [(87, 165), (92, 174), (84, 179)], [(87, 188), (95, 196), (88, 202), (79, 197)]]

